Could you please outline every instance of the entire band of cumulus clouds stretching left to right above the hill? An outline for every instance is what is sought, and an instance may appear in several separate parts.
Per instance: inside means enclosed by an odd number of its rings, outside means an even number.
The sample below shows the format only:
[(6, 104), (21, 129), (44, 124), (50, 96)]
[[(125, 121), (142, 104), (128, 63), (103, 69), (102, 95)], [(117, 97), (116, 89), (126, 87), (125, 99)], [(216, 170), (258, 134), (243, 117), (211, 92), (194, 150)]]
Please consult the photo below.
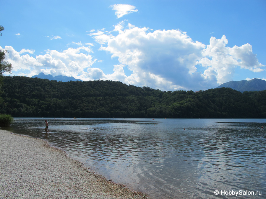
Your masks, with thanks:
[[(126, 20), (112, 31), (92, 30), (99, 49), (117, 58), (112, 74), (95, 67), (97, 57), (92, 48), (97, 45), (78, 43), (77, 48), (62, 52), (46, 50), (45, 55), (34, 55), (34, 50), (20, 52), (11, 46), (7, 59), (13, 65), (13, 75), (33, 76), (40, 72), (52, 75), (74, 76), (82, 80), (114, 80), (137, 86), (168, 90), (206, 90), (233, 80), (237, 67), (253, 72), (264, 71), (252, 52), (250, 44), (227, 47), (228, 40), (210, 38), (210, 44), (193, 41), (179, 29), (151, 30), (135, 27)], [(100, 60), (102, 61), (102, 60)], [(131, 71), (126, 75), (124, 69)]]

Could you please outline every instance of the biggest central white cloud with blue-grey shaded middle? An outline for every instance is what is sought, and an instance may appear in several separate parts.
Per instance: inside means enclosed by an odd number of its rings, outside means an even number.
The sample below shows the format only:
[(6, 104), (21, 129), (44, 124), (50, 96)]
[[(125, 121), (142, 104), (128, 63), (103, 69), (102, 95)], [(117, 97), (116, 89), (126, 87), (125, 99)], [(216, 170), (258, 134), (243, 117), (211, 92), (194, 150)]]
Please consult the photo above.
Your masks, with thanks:
[[(116, 26), (119, 32), (116, 37), (102, 33), (101, 36), (108, 38), (105, 41), (108, 45), (100, 48), (110, 52), (112, 57), (118, 57), (122, 65), (132, 70), (133, 74), (126, 82), (160, 89), (186, 89), (187, 81), (183, 78), (192, 79), (191, 73), (196, 72), (194, 65), (201, 58), (205, 45), (193, 42), (179, 30), (150, 33), (146, 27), (129, 27)], [(98, 36), (94, 38), (103, 43)], [(201, 78), (204, 79), (203, 75)]]

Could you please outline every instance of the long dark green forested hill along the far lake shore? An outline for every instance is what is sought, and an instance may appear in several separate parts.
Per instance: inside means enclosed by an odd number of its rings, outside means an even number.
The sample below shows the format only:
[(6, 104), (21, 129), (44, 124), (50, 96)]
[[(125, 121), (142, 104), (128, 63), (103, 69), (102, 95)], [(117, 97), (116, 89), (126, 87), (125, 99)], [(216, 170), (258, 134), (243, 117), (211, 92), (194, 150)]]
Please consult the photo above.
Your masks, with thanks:
[(266, 118), (266, 91), (160, 91), (114, 81), (4, 77), (1, 114), (13, 117)]

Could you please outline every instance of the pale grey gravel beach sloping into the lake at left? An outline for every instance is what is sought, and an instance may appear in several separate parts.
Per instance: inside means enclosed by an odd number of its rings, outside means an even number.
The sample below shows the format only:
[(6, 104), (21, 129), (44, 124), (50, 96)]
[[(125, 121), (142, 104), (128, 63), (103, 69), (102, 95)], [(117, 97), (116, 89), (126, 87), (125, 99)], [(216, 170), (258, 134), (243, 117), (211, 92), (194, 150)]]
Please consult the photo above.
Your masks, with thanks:
[(148, 198), (46, 141), (0, 130), (0, 198)]

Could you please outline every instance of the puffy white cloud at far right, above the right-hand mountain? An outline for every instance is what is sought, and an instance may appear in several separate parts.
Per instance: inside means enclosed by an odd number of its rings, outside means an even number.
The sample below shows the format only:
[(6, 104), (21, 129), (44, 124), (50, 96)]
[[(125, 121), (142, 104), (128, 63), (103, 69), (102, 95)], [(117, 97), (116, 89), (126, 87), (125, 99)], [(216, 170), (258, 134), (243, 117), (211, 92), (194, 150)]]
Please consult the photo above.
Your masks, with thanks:
[(233, 79), (235, 68), (238, 66), (253, 72), (264, 71), (262, 67), (265, 65), (258, 62), (250, 44), (230, 48), (226, 47), (227, 43), (225, 35), (221, 39), (210, 38), (210, 44), (203, 50), (203, 57), (198, 61), (198, 64), (207, 68), (204, 75), (214, 75), (217, 83), (222, 84)]

